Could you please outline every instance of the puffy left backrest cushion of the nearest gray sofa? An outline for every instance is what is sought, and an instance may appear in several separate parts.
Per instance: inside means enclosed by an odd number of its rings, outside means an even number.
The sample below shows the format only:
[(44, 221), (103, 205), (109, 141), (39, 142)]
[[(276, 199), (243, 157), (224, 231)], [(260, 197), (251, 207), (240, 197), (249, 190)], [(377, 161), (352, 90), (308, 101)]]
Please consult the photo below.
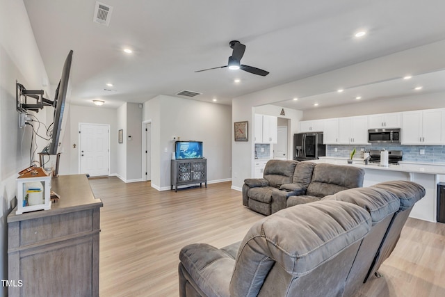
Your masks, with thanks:
[(319, 201), (283, 209), (260, 220), (245, 235), (236, 255), (231, 296), (257, 296), (274, 265), (300, 276), (362, 240), (371, 217), (357, 205)]

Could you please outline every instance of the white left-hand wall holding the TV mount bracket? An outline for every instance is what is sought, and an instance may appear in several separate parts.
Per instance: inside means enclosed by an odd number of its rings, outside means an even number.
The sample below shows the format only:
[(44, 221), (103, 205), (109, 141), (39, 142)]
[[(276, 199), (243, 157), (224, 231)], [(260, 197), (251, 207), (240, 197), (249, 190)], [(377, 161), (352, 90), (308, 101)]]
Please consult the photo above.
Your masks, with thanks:
[[(29, 166), (31, 129), (19, 129), (15, 111), (15, 81), (26, 88), (44, 89), (48, 81), (43, 61), (22, 1), (0, 0), (0, 278), (7, 279), (7, 225), (11, 200), (17, 193), (17, 172)], [(47, 83), (46, 83), (47, 84)], [(39, 117), (46, 118), (46, 111)], [(7, 288), (0, 290), (6, 296)]]

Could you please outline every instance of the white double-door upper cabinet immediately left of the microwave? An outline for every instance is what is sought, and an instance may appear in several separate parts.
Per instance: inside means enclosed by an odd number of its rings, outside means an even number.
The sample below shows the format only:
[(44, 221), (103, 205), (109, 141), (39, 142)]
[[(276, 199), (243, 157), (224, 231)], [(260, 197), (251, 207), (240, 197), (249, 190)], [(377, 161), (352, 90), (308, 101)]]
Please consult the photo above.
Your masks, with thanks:
[(368, 144), (368, 117), (357, 116), (339, 118), (339, 144), (366, 145)]

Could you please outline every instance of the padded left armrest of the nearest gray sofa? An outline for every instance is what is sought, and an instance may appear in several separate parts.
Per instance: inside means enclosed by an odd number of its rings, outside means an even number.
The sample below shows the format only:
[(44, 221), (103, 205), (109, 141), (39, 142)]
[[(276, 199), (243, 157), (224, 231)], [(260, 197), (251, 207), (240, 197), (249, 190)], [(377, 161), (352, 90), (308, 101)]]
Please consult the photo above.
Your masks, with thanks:
[[(194, 243), (181, 249), (179, 260), (179, 267), (182, 265), (185, 269), (185, 278), (197, 291), (205, 296), (229, 296), (235, 259), (227, 251), (206, 243)], [(181, 286), (180, 283), (180, 291)]]

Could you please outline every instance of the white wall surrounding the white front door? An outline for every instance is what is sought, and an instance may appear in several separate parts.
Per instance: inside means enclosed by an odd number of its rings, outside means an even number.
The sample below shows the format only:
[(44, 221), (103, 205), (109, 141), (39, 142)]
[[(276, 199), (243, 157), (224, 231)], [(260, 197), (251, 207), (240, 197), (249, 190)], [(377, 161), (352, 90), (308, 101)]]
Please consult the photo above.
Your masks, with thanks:
[[(116, 109), (107, 109), (104, 106), (89, 107), (71, 104), (66, 115), (68, 121), (65, 136), (62, 140), (59, 175), (79, 174), (79, 123), (110, 125), (110, 174), (116, 173), (118, 168)], [(76, 147), (73, 147), (74, 144)]]

